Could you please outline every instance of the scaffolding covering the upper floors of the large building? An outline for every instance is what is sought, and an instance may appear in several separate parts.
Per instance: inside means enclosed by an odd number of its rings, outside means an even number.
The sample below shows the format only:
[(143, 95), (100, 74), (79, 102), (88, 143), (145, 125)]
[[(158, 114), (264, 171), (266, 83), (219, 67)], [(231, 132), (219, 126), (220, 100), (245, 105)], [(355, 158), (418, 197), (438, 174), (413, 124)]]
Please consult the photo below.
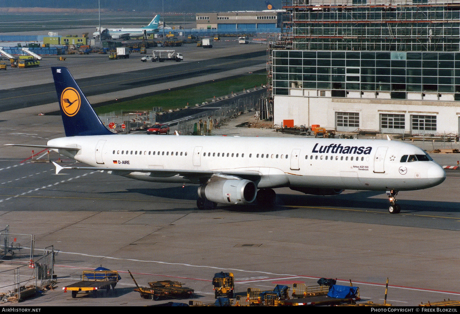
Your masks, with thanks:
[[(295, 50), (459, 51), (454, 0), (283, 0)], [(288, 42), (290, 36), (286, 36)]]

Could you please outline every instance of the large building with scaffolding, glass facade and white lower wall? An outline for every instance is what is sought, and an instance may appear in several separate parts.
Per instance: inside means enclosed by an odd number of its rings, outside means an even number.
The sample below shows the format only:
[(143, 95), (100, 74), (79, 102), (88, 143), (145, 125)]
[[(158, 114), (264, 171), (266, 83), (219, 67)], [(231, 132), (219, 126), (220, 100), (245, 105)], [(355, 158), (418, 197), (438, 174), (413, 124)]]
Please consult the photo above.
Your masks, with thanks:
[(460, 133), (458, 0), (292, 0), (284, 8), (287, 40), (269, 60), (274, 123)]

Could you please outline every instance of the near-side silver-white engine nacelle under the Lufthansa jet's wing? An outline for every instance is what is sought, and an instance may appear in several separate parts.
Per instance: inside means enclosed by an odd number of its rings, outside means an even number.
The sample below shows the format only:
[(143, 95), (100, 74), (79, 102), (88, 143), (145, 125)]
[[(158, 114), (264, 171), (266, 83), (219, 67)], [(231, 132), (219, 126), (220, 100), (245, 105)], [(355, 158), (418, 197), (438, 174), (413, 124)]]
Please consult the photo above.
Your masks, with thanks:
[(247, 204), (255, 200), (257, 187), (249, 180), (219, 180), (203, 184), (198, 195), (219, 204)]

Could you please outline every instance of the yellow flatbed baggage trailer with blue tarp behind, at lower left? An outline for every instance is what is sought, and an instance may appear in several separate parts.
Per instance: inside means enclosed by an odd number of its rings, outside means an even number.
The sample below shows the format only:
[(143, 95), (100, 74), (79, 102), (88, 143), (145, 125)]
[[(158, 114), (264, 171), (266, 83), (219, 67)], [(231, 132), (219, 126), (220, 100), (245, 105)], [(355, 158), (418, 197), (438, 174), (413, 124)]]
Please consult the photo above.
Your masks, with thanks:
[(83, 271), (81, 279), (81, 281), (63, 287), (62, 289), (64, 292), (72, 291), (73, 298), (77, 297), (79, 291), (86, 291), (86, 293), (90, 291), (97, 292), (98, 290), (109, 291), (110, 287), (112, 287), (115, 292), (115, 285), (121, 277), (116, 270), (98, 267), (94, 270)]

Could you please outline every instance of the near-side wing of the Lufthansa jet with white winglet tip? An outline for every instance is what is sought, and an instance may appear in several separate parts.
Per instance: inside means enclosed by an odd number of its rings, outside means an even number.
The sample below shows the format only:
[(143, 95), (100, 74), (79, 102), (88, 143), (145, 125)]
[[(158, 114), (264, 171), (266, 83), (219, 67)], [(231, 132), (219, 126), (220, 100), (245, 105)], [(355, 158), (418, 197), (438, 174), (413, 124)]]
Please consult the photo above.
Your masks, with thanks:
[(63, 169), (74, 169), (74, 170), (105, 170), (113, 171), (114, 174), (128, 174), (131, 172), (150, 172), (152, 177), (173, 177), (176, 175), (183, 177), (194, 177), (194, 178), (210, 178), (213, 174), (224, 174), (241, 177), (242, 179), (247, 179), (250, 181), (258, 180), (262, 174), (259, 171), (235, 171), (233, 169), (216, 169), (216, 170), (205, 170), (205, 171), (196, 171), (196, 170), (178, 170), (178, 169), (145, 169), (145, 168), (102, 168), (102, 167), (63, 167), (59, 166), (57, 163), (53, 162), (56, 166), (56, 174), (58, 174)]

